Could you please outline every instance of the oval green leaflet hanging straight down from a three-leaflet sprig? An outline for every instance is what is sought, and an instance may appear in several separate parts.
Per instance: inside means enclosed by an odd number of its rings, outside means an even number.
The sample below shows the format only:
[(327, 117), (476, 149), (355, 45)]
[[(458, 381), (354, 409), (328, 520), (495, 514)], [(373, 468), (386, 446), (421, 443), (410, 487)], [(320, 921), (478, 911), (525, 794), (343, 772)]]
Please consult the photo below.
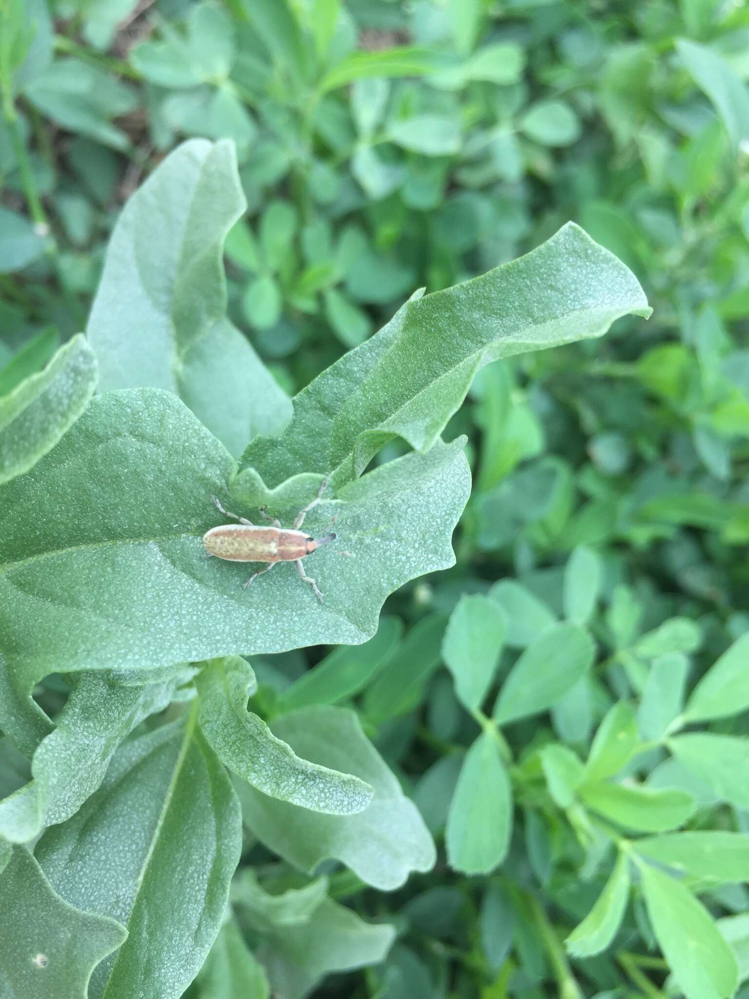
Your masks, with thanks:
[(488, 874), (504, 860), (512, 832), (512, 789), (496, 740), (482, 732), (463, 759), (445, 831), (447, 860), (464, 874)]

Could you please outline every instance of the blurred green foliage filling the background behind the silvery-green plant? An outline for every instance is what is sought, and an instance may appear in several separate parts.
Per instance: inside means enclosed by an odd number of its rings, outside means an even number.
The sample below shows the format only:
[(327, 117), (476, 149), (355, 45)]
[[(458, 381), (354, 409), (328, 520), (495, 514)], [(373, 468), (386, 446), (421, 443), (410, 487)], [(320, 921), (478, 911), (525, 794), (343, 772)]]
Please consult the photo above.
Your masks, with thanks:
[(321, 739), (358, 708), (437, 860), (360, 876), (264, 837), (247, 791), (194, 999), (266, 996), (264, 968), (283, 999), (749, 979), (748, 78), (721, 0), (0, 0), (0, 395), (85, 327), (125, 200), (190, 137), (236, 144), (227, 315), (289, 395), (568, 220), (654, 310), (479, 372), (445, 432), (457, 564), (375, 644), (253, 660), (280, 737), (285, 704)]

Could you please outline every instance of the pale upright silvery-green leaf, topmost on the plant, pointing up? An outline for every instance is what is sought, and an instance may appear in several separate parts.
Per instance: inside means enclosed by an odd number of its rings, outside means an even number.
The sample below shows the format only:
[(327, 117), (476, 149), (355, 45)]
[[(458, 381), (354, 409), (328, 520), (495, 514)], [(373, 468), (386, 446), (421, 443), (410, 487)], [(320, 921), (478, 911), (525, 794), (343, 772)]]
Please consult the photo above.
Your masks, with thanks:
[(168, 389), (234, 455), (292, 415), (226, 315), (224, 240), (245, 208), (234, 145), (184, 143), (126, 205), (88, 324), (103, 391)]

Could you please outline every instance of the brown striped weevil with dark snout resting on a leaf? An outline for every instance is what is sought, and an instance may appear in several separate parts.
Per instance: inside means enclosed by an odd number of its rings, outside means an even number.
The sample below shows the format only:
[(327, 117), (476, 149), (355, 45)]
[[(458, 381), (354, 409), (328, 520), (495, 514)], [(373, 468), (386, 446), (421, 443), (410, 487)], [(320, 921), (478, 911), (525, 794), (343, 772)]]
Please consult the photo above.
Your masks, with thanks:
[(318, 537), (316, 539), (315, 537), (311, 537), (306, 531), (300, 530), (300, 527), (305, 522), (305, 517), (313, 506), (317, 506), (320, 500), (323, 499), (323, 494), (327, 486), (328, 480), (325, 479), (321, 484), (317, 497), (299, 511), (292, 527), (282, 527), (280, 520), (266, 513), (265, 506), (261, 508), (260, 514), (266, 520), (269, 520), (273, 526), (261, 526), (260, 524), (253, 523), (252, 520), (248, 520), (245, 516), (240, 516), (238, 513), (231, 513), (228, 509), (224, 509), (218, 497), (212, 497), (211, 499), (225, 516), (232, 516), (239, 523), (223, 523), (218, 527), (211, 527), (210, 530), (206, 531), (203, 535), (203, 544), (209, 557), (216, 555), (217, 558), (226, 558), (229, 561), (270, 562), (267, 568), (253, 572), (247, 582), (244, 583), (245, 588), (254, 579), (257, 579), (259, 575), (263, 575), (264, 572), (270, 572), (280, 561), (296, 562), (297, 571), (302, 577), (302, 581), (312, 586), (315, 595), (322, 603), (323, 594), (318, 589), (315, 579), (305, 572), (302, 559), (315, 551), (316, 548), (335, 541), (336, 534), (326, 534), (325, 537)]

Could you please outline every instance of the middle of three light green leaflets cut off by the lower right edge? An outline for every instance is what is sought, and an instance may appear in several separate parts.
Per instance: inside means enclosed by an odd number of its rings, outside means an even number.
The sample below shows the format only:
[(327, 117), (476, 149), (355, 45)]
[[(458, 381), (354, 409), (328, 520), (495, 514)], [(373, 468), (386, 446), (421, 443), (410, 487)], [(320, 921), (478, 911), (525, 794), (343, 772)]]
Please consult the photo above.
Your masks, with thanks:
[(719, 798), (749, 809), (749, 739), (689, 732), (668, 739), (666, 745)]

